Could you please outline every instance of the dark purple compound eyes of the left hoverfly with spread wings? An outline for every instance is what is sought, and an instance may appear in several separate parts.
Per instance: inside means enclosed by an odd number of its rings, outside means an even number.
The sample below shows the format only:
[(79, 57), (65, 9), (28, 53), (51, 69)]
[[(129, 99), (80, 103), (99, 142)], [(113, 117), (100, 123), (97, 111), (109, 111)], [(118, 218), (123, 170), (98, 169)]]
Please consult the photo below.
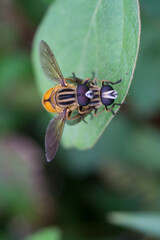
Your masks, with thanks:
[(86, 97), (85, 93), (89, 88), (85, 84), (81, 84), (77, 87), (77, 99), (80, 106), (86, 106), (90, 103), (90, 98)]

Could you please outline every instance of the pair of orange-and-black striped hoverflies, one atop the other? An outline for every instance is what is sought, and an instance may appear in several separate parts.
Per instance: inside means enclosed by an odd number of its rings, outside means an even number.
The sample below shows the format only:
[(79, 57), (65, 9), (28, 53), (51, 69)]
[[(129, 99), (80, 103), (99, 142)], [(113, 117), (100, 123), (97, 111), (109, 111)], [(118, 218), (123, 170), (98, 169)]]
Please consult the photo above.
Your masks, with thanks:
[[(73, 78), (64, 78), (50, 47), (43, 40), (40, 42), (39, 51), (44, 74), (49, 80), (57, 84), (47, 90), (42, 98), (44, 108), (48, 112), (57, 113), (50, 120), (45, 135), (46, 159), (49, 162), (56, 155), (66, 120), (84, 120), (93, 110), (95, 115), (104, 109), (114, 114), (114, 106), (121, 104), (114, 103), (118, 93), (111, 85), (118, 84), (122, 80), (115, 83), (103, 80), (102, 86), (99, 87), (95, 79), (82, 80), (75, 75)], [(102, 105), (105, 108), (97, 113)], [(111, 107), (108, 108), (108, 106)], [(76, 114), (71, 117), (74, 111)]]

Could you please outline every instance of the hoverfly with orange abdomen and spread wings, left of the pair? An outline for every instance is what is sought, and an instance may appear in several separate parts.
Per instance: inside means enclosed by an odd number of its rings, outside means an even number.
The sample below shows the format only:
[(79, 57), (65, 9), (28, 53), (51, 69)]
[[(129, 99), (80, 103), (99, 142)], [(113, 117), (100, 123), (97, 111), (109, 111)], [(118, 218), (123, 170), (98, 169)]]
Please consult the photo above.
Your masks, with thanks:
[[(92, 108), (85, 109), (93, 97), (89, 89), (89, 78), (82, 81), (79, 78), (64, 78), (58, 63), (44, 41), (40, 42), (40, 62), (44, 74), (55, 87), (50, 88), (42, 98), (42, 104), (48, 112), (57, 113), (50, 120), (45, 135), (45, 151), (47, 161), (51, 161), (58, 150), (65, 121), (73, 119), (84, 119)], [(72, 83), (69, 83), (71, 81)], [(76, 85), (75, 85), (76, 84)], [(76, 110), (77, 115), (71, 118), (72, 112)]]

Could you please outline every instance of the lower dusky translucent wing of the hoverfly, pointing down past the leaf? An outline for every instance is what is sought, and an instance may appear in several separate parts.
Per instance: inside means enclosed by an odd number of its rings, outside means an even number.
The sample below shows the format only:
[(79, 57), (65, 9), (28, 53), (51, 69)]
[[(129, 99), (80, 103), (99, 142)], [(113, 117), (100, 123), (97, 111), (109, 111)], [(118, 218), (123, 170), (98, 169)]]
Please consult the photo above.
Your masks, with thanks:
[(48, 124), (45, 135), (46, 158), (50, 162), (56, 155), (66, 120), (66, 111), (58, 114)]

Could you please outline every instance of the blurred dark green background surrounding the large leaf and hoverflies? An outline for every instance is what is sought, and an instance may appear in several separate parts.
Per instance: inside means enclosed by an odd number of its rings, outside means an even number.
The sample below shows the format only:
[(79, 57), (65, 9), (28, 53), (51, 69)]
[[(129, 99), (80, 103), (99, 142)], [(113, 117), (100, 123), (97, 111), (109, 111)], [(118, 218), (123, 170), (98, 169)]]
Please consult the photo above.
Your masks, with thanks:
[(51, 2), (0, 2), (0, 239), (49, 227), (43, 239), (155, 239), (108, 216), (160, 212), (160, 1), (140, 1), (141, 44), (127, 104), (96, 146), (83, 152), (60, 146), (48, 164), (50, 116), (35, 84), (31, 47)]

